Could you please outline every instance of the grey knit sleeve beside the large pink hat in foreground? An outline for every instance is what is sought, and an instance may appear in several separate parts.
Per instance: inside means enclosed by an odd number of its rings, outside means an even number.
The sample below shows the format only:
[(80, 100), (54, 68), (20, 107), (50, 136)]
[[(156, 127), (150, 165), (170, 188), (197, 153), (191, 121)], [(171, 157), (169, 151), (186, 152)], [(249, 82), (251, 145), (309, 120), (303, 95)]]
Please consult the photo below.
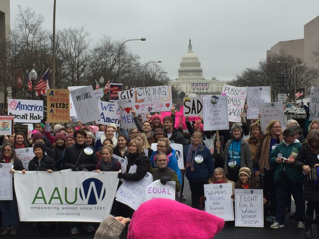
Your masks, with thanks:
[(125, 225), (116, 220), (112, 215), (108, 215), (97, 229), (94, 239), (118, 239)]

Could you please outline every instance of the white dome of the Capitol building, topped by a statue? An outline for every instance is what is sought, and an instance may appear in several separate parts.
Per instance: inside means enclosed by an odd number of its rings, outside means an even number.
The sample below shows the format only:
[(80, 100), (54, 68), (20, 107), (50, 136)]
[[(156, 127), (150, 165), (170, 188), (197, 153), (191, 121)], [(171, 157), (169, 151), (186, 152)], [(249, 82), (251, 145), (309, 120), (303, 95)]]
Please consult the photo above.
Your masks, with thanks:
[(198, 56), (193, 52), (189, 39), (188, 52), (183, 56), (178, 69), (177, 79), (203, 78), (203, 69), (200, 66)]

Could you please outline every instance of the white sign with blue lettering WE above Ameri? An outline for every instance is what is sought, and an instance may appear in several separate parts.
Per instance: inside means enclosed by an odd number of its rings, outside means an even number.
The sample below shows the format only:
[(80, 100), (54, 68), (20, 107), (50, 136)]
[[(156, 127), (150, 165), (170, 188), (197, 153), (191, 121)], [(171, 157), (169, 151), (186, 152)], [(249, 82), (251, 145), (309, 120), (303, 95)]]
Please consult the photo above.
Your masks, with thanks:
[(118, 127), (120, 127), (120, 112), (119, 105), (117, 102), (106, 102), (99, 101), (98, 109), (100, 111), (100, 117), (97, 118), (98, 124), (108, 125), (109, 123), (115, 123)]

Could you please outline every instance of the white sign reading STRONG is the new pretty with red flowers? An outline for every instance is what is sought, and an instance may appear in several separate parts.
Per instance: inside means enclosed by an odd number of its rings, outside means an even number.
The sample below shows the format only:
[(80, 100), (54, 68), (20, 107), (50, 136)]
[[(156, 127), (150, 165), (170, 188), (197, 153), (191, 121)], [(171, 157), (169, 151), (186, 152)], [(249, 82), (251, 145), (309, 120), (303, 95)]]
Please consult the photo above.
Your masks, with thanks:
[(133, 88), (133, 95), (137, 113), (167, 111), (173, 105), (170, 85)]

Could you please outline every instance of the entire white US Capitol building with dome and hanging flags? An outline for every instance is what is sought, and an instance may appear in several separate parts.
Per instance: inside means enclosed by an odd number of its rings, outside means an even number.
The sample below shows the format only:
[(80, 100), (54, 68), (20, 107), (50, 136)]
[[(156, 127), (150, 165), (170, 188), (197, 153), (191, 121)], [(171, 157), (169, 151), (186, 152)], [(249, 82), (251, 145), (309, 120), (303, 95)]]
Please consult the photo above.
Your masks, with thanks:
[(184, 91), (186, 96), (220, 94), (224, 84), (231, 84), (231, 81), (219, 81), (216, 77), (206, 80), (203, 77), (203, 69), (200, 66), (197, 55), (192, 50), (189, 39), (188, 51), (183, 56), (178, 69), (178, 77), (169, 80), (179, 93)]

